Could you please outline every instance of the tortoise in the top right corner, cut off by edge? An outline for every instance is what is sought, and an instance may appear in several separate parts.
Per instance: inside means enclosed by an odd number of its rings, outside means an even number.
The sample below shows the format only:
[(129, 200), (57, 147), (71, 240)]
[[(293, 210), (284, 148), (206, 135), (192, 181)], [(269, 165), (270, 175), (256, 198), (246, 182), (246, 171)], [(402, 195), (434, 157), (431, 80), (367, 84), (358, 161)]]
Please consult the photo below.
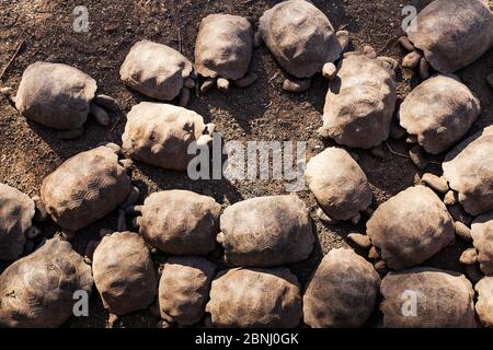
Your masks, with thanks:
[(451, 73), (480, 58), (493, 45), (493, 15), (482, 0), (435, 0), (424, 8), (400, 42), (411, 52), (402, 66), (420, 68), (429, 78), (429, 65)]

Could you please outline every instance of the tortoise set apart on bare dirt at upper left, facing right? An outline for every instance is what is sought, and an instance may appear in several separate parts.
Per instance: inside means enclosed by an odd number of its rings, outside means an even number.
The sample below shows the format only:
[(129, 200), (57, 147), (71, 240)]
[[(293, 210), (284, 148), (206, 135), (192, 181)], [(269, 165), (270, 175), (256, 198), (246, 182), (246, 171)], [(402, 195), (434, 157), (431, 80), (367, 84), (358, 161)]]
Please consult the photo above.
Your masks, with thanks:
[(89, 114), (103, 126), (111, 122), (104, 107), (114, 110), (116, 103), (96, 90), (96, 81), (77, 68), (37, 61), (22, 74), (15, 108), (30, 120), (60, 130), (60, 139), (72, 139), (82, 135)]

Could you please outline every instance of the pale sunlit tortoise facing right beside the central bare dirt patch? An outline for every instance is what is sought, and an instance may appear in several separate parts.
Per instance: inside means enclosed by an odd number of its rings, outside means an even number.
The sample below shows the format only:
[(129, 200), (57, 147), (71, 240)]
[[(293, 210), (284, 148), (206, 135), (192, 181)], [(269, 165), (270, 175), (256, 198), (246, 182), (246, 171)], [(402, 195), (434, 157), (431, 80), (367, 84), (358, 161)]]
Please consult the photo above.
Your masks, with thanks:
[(122, 136), (124, 151), (134, 160), (168, 170), (183, 171), (195, 156), (191, 144), (207, 145), (214, 124), (200, 115), (169, 104), (141, 102), (127, 115)]

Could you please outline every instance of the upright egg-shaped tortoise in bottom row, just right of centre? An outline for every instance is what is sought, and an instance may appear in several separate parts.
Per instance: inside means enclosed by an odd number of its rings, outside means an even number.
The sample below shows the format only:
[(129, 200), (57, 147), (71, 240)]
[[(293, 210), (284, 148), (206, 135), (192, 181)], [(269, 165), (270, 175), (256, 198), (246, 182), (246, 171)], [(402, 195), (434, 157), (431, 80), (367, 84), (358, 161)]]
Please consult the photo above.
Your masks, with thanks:
[(380, 277), (352, 249), (332, 249), (303, 295), (305, 323), (312, 328), (362, 327), (374, 312)]

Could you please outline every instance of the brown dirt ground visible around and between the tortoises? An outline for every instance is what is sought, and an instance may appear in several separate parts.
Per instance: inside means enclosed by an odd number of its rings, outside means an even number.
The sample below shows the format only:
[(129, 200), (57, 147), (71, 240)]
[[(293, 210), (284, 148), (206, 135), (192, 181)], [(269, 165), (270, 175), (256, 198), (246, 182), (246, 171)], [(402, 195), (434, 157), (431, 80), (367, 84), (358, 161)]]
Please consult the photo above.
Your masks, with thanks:
[[(28, 194), (38, 194), (43, 178), (68, 158), (89, 150), (101, 142), (122, 143), (128, 110), (148, 98), (129, 91), (119, 81), (119, 66), (129, 48), (139, 39), (147, 38), (179, 48), (193, 59), (197, 24), (210, 13), (231, 13), (259, 19), (263, 11), (279, 1), (274, 0), (0, 0), (0, 68), (5, 67), (19, 43), (25, 44), (7, 70), (2, 86), (16, 90), (24, 69), (37, 61), (62, 62), (74, 66), (99, 82), (99, 91), (118, 100), (122, 113), (114, 114), (115, 126), (101, 127), (90, 120), (83, 136), (76, 140), (57, 140), (53, 130), (27, 122), (5, 98), (0, 100), (0, 182)], [(397, 39), (401, 32), (401, 10), (414, 4), (420, 10), (431, 1), (413, 0), (314, 0), (312, 1), (331, 20), (335, 28), (349, 31), (353, 48), (364, 44), (374, 46), (378, 54), (402, 59), (404, 51)], [(77, 5), (89, 9), (89, 33), (72, 30), (72, 10)], [(213, 121), (226, 140), (295, 140), (308, 141), (308, 155), (319, 153), (331, 142), (322, 142), (317, 129), (322, 125), (322, 109), (328, 83), (322, 77), (313, 80), (306, 93), (289, 94), (280, 90), (284, 72), (265, 47), (254, 51), (251, 69), (259, 81), (248, 89), (231, 89), (228, 93), (211, 91), (204, 96), (193, 96), (190, 108)], [(480, 60), (458, 72), (463, 82), (481, 100), (482, 114), (469, 133), (493, 124), (492, 91), (485, 75), (493, 69), (493, 52), (490, 50)], [(419, 83), (409, 70), (398, 73), (399, 103)], [(404, 141), (389, 141), (392, 149), (404, 152)], [(367, 151), (353, 150), (359, 164), (368, 175), (377, 206), (400, 190), (412, 186), (420, 173), (409, 159), (394, 155), (385, 149), (385, 158), (378, 159)], [(427, 172), (440, 173), (439, 162), (444, 155), (434, 158)], [(282, 182), (192, 182), (185, 173), (159, 170), (136, 164), (133, 179), (142, 192), (160, 189), (183, 188), (213, 195), (223, 206), (242, 199), (284, 194)], [(317, 209), (312, 195), (300, 191), (299, 196), (311, 208)], [(85, 244), (95, 237), (101, 228), (115, 229), (116, 217), (110, 215), (83, 230), (73, 241), (76, 249), (84, 250)], [(364, 232), (365, 223), (354, 228), (349, 224), (326, 226), (314, 221), (318, 234), (317, 248), (303, 262), (290, 266), (305, 285), (323, 254), (331, 248), (346, 246), (349, 232)], [(51, 223), (42, 226), (45, 236), (51, 236), (57, 228)], [(466, 244), (457, 241), (425, 265), (461, 271), (458, 265)], [(158, 266), (165, 259), (156, 256)], [(0, 266), (2, 271), (7, 266)], [(107, 317), (96, 293), (91, 298), (91, 316), (72, 318), (68, 327), (104, 327)], [(381, 315), (375, 312), (368, 322), (378, 326)], [(148, 312), (123, 317), (122, 327), (153, 327), (158, 318)]]

